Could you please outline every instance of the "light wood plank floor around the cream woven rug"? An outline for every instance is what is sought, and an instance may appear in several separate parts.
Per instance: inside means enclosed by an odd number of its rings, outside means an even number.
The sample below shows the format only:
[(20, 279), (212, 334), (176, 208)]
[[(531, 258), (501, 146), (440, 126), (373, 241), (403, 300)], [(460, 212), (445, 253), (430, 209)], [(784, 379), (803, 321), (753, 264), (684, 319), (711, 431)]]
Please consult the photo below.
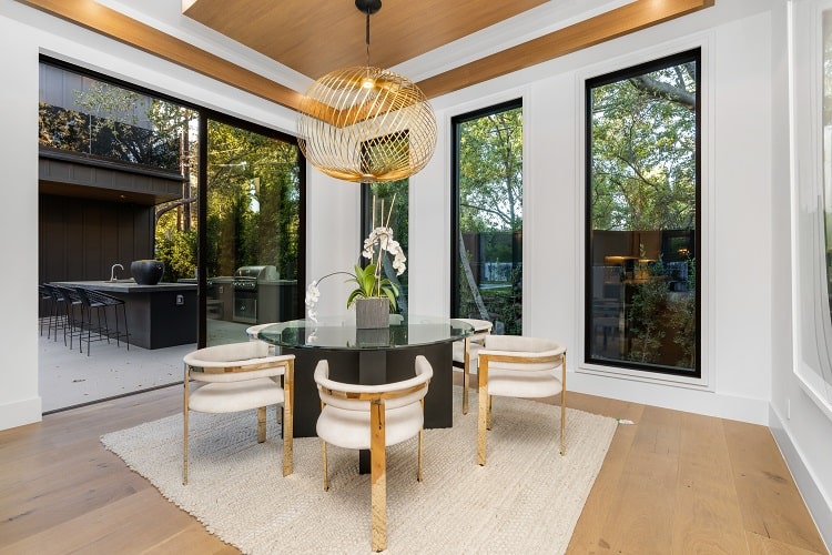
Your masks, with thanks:
[[(237, 553), (99, 442), (179, 412), (181, 391), (0, 432), (0, 554)], [(569, 553), (826, 553), (768, 428), (575, 393), (567, 400), (635, 422), (619, 426)]]

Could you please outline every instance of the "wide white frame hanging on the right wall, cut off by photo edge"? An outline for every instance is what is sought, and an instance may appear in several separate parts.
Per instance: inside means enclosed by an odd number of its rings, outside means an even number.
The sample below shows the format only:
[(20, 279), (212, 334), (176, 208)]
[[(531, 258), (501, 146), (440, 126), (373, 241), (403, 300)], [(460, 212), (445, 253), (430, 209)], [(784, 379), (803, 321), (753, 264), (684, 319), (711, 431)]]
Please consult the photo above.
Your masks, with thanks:
[[(823, 228), (823, 12), (832, 0), (789, 2), (794, 374), (832, 418), (832, 320)], [(829, 201), (826, 199), (826, 201)]]

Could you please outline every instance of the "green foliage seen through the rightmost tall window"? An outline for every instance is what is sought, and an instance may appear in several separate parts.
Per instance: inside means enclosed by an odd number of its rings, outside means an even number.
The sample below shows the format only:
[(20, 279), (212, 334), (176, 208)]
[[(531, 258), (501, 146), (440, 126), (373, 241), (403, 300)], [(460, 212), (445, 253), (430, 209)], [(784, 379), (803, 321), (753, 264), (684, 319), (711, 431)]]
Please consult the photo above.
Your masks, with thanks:
[[(590, 90), (591, 230), (696, 229), (696, 61), (689, 60)], [(605, 254), (648, 258), (638, 246), (638, 252), (631, 248)], [(659, 254), (681, 252), (669, 242), (653, 249)], [(622, 279), (627, 333), (620, 339), (621, 357), (692, 370), (698, 336), (696, 264), (688, 261), (687, 291), (671, 291), (672, 276), (661, 259), (643, 264), (637, 262), (635, 276)]]

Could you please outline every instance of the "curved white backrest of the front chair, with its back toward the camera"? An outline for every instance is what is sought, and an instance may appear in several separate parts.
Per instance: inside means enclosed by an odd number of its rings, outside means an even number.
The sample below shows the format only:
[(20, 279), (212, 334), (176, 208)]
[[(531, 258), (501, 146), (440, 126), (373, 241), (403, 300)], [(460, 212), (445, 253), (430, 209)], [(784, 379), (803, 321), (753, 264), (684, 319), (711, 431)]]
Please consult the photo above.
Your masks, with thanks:
[(329, 380), (329, 364), (326, 360), (318, 361), (315, 366), (315, 383), (317, 383), (321, 401), (327, 405), (347, 411), (368, 412), (371, 402), (382, 400), (386, 407), (417, 403), (427, 394), (434, 369), (423, 355), (416, 356), (416, 376), (400, 382), (379, 385), (347, 384)]

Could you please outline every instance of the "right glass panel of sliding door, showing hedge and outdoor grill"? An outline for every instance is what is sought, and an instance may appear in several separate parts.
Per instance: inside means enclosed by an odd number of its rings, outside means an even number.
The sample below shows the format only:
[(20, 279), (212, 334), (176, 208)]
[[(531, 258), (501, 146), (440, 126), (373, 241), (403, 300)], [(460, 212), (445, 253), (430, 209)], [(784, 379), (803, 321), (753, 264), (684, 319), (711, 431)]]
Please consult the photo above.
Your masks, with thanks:
[(301, 179), (294, 143), (213, 120), (207, 140), (207, 344), (216, 344), (301, 317)]

